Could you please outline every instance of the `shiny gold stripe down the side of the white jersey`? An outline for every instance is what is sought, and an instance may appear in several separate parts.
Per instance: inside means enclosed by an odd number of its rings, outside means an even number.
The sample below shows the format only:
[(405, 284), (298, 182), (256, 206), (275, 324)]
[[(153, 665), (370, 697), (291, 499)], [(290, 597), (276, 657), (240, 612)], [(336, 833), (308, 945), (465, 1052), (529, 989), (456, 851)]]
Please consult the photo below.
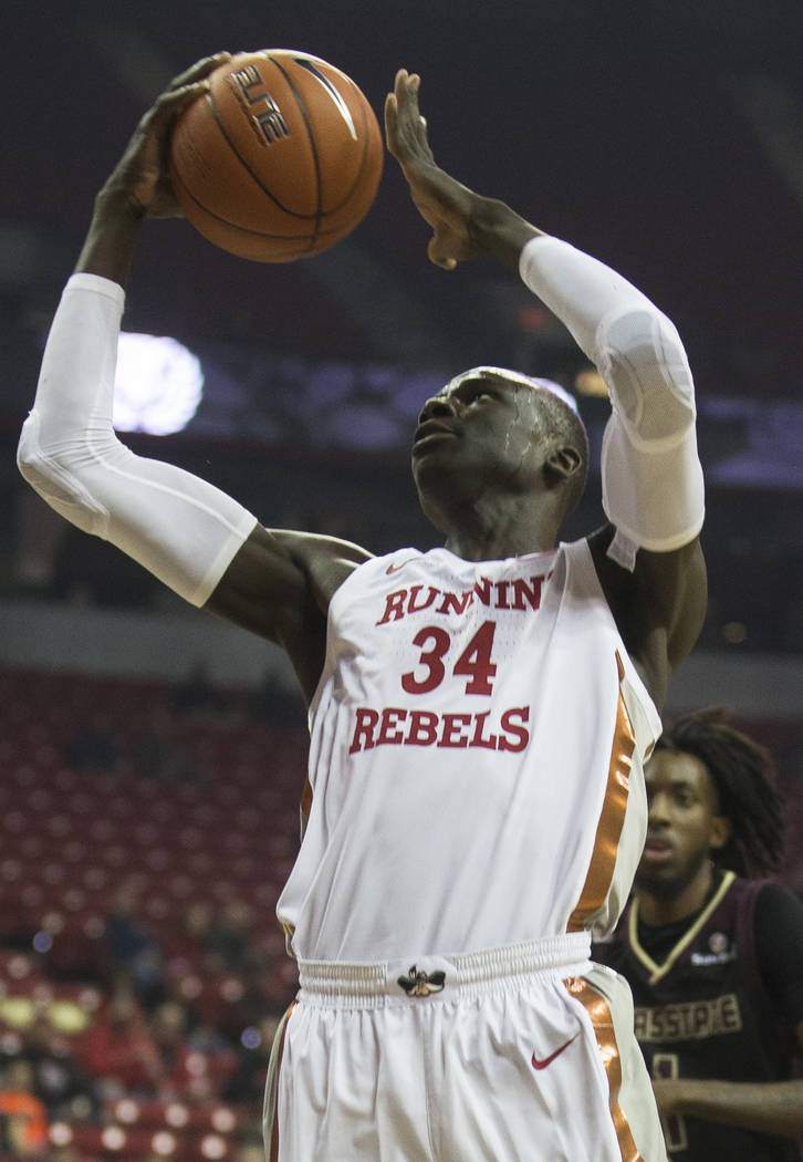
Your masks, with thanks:
[(582, 885), (580, 899), (569, 917), (568, 932), (579, 932), (587, 927), (589, 918), (595, 912), (598, 912), (605, 902), (614, 880), (616, 854), (619, 847), (625, 811), (628, 810), (630, 769), (636, 748), (636, 732), (622, 693), (624, 666), (618, 652), (616, 654), (616, 667), (619, 675), (619, 696), (616, 708), (614, 743), (608, 762), (608, 782), (594, 838), (594, 849), (588, 865), (588, 873), (586, 874), (586, 882)]

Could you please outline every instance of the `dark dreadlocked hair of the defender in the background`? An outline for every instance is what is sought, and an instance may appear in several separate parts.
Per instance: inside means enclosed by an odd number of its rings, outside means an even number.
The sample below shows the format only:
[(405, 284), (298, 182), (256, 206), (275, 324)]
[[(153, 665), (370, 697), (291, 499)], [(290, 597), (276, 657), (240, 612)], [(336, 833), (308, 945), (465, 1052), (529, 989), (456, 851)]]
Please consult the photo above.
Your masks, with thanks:
[(709, 772), (719, 811), (731, 834), (714, 858), (738, 875), (774, 871), (783, 852), (783, 798), (769, 751), (729, 724), (725, 706), (709, 706), (675, 719), (655, 749), (683, 751)]

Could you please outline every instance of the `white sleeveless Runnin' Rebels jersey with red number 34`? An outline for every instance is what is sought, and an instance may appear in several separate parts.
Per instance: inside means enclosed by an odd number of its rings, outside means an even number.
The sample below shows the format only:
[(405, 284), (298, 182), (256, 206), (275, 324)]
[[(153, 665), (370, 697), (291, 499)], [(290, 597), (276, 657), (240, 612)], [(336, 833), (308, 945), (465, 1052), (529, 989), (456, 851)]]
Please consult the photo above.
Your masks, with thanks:
[(361, 565), (330, 604), (310, 727), (278, 904), (299, 959), (413, 962), (616, 924), (660, 719), (585, 540)]

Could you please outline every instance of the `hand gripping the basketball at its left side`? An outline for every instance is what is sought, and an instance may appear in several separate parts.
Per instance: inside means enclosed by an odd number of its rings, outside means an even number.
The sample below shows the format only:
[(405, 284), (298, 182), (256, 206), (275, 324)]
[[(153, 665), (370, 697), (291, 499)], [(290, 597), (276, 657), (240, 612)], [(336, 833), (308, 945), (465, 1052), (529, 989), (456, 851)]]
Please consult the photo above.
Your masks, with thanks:
[(122, 198), (138, 217), (181, 216), (170, 182), (170, 135), (185, 109), (208, 91), (207, 76), (230, 56), (205, 57), (173, 78), (139, 121), (101, 196)]

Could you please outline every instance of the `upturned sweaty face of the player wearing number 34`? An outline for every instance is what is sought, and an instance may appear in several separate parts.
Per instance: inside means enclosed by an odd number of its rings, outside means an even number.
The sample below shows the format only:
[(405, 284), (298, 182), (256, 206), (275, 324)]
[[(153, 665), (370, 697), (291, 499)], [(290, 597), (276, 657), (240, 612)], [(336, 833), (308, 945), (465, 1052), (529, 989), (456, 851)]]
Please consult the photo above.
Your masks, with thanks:
[(535, 490), (551, 447), (543, 394), (483, 372), (458, 376), (428, 400), (411, 451), (424, 510), (437, 508), (444, 490), (468, 496), (488, 488)]

